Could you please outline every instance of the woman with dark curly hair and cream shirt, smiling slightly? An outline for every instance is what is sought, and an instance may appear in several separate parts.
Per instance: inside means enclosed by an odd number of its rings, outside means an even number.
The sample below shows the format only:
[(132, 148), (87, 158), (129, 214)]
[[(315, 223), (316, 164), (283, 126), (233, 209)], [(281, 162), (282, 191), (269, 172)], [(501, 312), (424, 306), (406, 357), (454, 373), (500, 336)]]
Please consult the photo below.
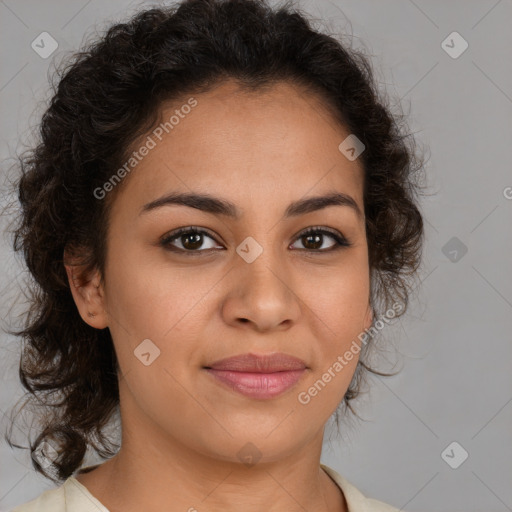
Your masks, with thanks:
[(15, 512), (397, 510), (320, 464), (423, 243), (366, 58), (289, 7), (189, 0), (59, 78), (14, 247), (39, 290), (30, 450), (60, 485)]

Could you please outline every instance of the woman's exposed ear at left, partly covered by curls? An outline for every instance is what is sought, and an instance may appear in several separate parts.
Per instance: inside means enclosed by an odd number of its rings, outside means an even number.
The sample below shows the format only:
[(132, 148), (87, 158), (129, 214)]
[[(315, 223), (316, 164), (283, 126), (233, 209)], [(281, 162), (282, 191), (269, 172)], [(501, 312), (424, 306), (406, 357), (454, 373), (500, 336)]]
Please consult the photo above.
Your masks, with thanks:
[(108, 315), (105, 309), (105, 292), (100, 282), (99, 271), (92, 276), (84, 276), (84, 267), (74, 263), (64, 251), (64, 264), (68, 276), (69, 288), (82, 320), (96, 329), (108, 327)]

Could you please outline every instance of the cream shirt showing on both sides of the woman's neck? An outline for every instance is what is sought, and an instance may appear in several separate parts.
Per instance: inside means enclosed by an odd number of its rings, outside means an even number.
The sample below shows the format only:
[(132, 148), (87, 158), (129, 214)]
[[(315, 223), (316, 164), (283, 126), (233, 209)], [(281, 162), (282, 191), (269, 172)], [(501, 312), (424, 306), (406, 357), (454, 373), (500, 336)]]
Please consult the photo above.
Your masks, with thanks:
[[(365, 497), (334, 469), (320, 464), (336, 482), (347, 501), (348, 512), (399, 512), (382, 501)], [(60, 487), (43, 492), (37, 498), (19, 505), (11, 512), (109, 512), (74, 476)]]

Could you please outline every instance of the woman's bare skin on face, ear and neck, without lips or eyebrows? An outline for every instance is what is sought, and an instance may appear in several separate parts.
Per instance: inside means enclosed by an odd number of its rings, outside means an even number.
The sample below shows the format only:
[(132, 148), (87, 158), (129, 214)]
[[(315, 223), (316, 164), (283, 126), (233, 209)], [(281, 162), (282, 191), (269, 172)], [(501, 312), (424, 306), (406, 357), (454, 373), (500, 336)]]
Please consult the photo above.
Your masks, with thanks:
[[(371, 325), (365, 219), (348, 206), (282, 217), (291, 202), (330, 192), (350, 195), (364, 212), (362, 165), (338, 149), (349, 132), (297, 86), (249, 93), (227, 81), (195, 98), (195, 109), (124, 178), (105, 285), (96, 273), (78, 286), (78, 269), (66, 265), (81, 317), (110, 329), (121, 368), (122, 447), (77, 479), (111, 512), (346, 511), (319, 464), (325, 424), (358, 356), (308, 404), (298, 394)], [(162, 118), (175, 109), (163, 106)], [(140, 214), (174, 191), (222, 197), (242, 216), (178, 205)], [(189, 226), (212, 236), (203, 236), (200, 254), (159, 245)], [(321, 253), (336, 243), (299, 236), (313, 226), (352, 245)], [(248, 236), (263, 248), (250, 264), (236, 252)], [(186, 243), (182, 236), (170, 245)], [(134, 355), (145, 339), (160, 350), (148, 366)], [(291, 354), (308, 370), (284, 394), (256, 400), (203, 369), (247, 352)], [(261, 454), (251, 467), (237, 456), (248, 442)]]

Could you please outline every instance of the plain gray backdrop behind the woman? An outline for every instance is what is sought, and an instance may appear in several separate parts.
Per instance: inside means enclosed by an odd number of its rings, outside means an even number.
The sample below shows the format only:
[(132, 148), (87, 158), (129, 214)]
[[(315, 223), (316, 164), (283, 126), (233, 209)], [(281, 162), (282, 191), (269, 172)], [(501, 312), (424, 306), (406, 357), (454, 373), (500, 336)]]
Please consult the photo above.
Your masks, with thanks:
[[(149, 4), (0, 1), (3, 161), (37, 124), (51, 62), (77, 49), (95, 28), (144, 5)], [(358, 404), (366, 421), (344, 427), (341, 439), (329, 431), (322, 462), (363, 493), (411, 512), (510, 511), (512, 2), (300, 5), (325, 20), (324, 28), (352, 34), (354, 46), (371, 54), (381, 86), (402, 100), (411, 128), (431, 154), (426, 167), (432, 195), (422, 201), (427, 220), (423, 281), (407, 318), (384, 332), (390, 363), (383, 368), (390, 370), (395, 362), (403, 369), (393, 378), (371, 379), (371, 393)], [(48, 59), (30, 46), (43, 31), (59, 43)], [(458, 58), (441, 46), (453, 31), (469, 44)], [(461, 47), (457, 41), (448, 44)], [(2, 171), (5, 186), (5, 161)], [(4, 196), (3, 201), (12, 199)], [(2, 222), (5, 227), (6, 219)], [(454, 247), (457, 256), (449, 252)], [(460, 257), (463, 247), (467, 253)], [(5, 236), (0, 251), (5, 328), (13, 325), (24, 276)], [(458, 261), (450, 260), (454, 257)], [(22, 392), (19, 341), (3, 334), (0, 349), (4, 431), (5, 413)], [(457, 469), (441, 456), (453, 441), (462, 448), (449, 451), (451, 461), (459, 460), (462, 449), (469, 454)], [(31, 469), (26, 451), (13, 452), (3, 440), (0, 461), (2, 511), (53, 487)]]

